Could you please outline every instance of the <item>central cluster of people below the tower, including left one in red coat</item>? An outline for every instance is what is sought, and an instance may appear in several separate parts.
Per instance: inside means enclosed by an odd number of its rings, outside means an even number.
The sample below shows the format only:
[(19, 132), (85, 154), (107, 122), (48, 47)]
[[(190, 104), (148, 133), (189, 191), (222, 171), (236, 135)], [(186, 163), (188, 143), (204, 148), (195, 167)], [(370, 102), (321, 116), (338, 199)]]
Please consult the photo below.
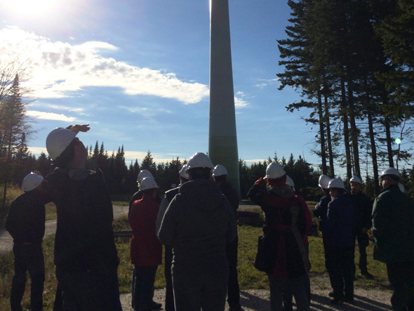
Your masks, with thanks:
[[(213, 174), (211, 174), (213, 171)], [(149, 171), (138, 175), (131, 199), (134, 310), (159, 308), (154, 280), (165, 246), (166, 311), (241, 310), (237, 279), (236, 210), (239, 196), (227, 170), (201, 152), (180, 169), (180, 186), (157, 198)], [(210, 180), (211, 175), (213, 180)]]

